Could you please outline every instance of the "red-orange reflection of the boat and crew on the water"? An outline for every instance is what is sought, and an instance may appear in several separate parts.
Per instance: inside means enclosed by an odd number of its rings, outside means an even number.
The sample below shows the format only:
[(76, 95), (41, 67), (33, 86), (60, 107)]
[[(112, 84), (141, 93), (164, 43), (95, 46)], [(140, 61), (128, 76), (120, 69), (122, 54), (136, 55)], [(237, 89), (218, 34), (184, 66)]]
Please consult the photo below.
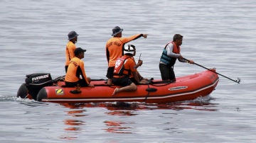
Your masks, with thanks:
[[(65, 127), (65, 131), (68, 131), (68, 135), (65, 139), (75, 139), (75, 136), (79, 134), (81, 130), (85, 127), (85, 118), (87, 116), (87, 108), (105, 108), (106, 117), (110, 116), (136, 116), (139, 114), (139, 110), (207, 110), (215, 111), (217, 105), (210, 103), (210, 100), (195, 100), (187, 101), (181, 103), (168, 103), (168, 104), (147, 104), (147, 103), (63, 103), (61, 105), (65, 108), (69, 108), (65, 111), (68, 114), (69, 119), (64, 120), (64, 124), (68, 125)], [(72, 117), (70, 119), (70, 117)], [(102, 121), (105, 127), (102, 130), (110, 133), (117, 134), (132, 134), (133, 127), (131, 125), (136, 124), (136, 122), (126, 121), (127, 118), (122, 118), (124, 120), (120, 121), (120, 118), (110, 118), (108, 120)], [(168, 129), (170, 130), (170, 129)], [(173, 129), (172, 129), (173, 130)], [(70, 132), (73, 131), (73, 132)], [(70, 134), (75, 133), (73, 136)]]

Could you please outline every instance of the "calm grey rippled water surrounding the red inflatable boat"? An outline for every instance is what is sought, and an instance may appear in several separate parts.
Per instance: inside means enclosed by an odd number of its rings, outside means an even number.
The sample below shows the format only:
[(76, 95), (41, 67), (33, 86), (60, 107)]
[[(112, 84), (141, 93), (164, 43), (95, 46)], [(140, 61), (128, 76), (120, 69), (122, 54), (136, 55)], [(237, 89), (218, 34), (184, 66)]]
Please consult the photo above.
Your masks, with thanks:
[[(256, 142), (256, 2), (238, 1), (0, 1), (0, 142)], [(220, 74), (207, 98), (168, 105), (66, 105), (16, 98), (26, 74), (65, 73), (67, 34), (87, 49), (85, 70), (105, 79), (105, 43), (112, 28), (147, 33), (131, 43), (139, 68), (160, 78), (161, 50), (175, 33), (183, 57)], [(138, 59), (138, 56), (135, 57)], [(176, 76), (204, 69), (177, 62)]]

